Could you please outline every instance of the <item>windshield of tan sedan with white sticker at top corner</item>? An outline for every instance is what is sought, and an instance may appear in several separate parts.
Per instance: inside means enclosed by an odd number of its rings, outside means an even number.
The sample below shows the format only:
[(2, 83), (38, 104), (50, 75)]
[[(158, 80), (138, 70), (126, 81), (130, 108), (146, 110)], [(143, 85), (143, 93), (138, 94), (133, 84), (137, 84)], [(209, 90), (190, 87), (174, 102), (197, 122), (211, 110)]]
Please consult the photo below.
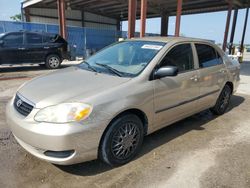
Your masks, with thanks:
[(91, 56), (79, 67), (120, 77), (135, 77), (164, 45), (164, 42), (123, 41)]

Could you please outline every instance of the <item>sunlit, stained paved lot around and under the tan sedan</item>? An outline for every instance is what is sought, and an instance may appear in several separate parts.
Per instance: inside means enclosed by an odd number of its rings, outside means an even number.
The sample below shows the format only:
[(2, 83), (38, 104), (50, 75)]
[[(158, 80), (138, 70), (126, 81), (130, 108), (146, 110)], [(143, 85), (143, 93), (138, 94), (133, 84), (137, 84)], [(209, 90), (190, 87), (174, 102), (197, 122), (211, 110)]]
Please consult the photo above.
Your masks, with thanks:
[(239, 91), (225, 115), (204, 111), (147, 136), (140, 155), (115, 169), (98, 160), (55, 166), (16, 143), (5, 104), (22, 83), (47, 72), (0, 68), (0, 187), (250, 187), (250, 62), (242, 65)]

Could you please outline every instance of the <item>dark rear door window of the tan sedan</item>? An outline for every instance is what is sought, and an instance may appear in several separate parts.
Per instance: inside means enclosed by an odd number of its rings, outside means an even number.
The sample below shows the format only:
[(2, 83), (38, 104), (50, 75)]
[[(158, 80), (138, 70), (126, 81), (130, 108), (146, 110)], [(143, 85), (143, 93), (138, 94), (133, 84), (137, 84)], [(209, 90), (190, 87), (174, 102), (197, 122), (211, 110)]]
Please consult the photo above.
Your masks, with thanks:
[(200, 68), (212, 67), (222, 64), (223, 61), (218, 52), (206, 44), (195, 44)]

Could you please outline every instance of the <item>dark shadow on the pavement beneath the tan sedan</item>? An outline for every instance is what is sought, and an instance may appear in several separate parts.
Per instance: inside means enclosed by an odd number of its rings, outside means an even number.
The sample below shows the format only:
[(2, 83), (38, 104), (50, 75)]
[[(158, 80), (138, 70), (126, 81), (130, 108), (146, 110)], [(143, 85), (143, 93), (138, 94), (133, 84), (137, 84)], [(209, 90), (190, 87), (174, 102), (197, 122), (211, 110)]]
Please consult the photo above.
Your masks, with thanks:
[[(245, 98), (241, 96), (232, 96), (232, 102), (226, 113), (241, 105), (244, 100)], [(160, 147), (161, 145), (166, 144), (169, 141), (181, 135), (184, 135), (189, 131), (205, 130), (206, 123), (216, 119), (217, 117), (218, 116), (213, 115), (210, 110), (205, 110), (146, 136), (142, 149), (136, 158), (138, 159), (143, 157), (143, 155), (145, 155), (146, 153), (149, 153), (155, 148)], [(55, 166), (64, 172), (78, 176), (93, 176), (113, 169), (100, 160), (94, 160), (69, 166)]]

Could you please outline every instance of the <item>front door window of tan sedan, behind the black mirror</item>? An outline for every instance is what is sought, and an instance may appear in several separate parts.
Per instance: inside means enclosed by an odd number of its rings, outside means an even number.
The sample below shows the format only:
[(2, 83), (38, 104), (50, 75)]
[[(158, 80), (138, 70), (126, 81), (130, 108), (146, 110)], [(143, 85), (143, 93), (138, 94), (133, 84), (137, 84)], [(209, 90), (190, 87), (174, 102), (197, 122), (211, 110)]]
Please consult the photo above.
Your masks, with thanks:
[(162, 66), (176, 66), (179, 72), (193, 70), (194, 60), (191, 44), (180, 44), (173, 47), (164, 57)]

